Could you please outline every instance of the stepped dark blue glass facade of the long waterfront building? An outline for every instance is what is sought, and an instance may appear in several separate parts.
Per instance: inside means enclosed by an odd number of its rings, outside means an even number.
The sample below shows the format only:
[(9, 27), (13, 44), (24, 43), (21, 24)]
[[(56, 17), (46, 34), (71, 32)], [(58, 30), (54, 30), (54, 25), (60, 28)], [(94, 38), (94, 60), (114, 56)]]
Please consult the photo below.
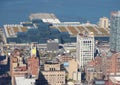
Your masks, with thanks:
[(18, 32), (17, 37), (7, 38), (7, 42), (15, 43), (47, 43), (49, 39), (58, 39), (59, 43), (75, 42), (75, 37), (71, 37), (68, 32), (60, 32), (58, 29), (50, 28), (50, 24), (44, 23), (40, 19), (32, 20), (36, 27), (29, 28), (26, 32)]

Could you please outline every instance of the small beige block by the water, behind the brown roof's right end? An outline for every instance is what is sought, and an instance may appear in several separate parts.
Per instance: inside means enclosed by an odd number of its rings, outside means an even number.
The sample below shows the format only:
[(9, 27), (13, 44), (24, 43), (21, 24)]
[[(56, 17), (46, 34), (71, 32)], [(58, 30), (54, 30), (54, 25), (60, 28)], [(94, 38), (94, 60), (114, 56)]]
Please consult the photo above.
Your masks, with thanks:
[(109, 27), (109, 19), (107, 17), (102, 17), (99, 19), (99, 27), (100, 28), (108, 28)]

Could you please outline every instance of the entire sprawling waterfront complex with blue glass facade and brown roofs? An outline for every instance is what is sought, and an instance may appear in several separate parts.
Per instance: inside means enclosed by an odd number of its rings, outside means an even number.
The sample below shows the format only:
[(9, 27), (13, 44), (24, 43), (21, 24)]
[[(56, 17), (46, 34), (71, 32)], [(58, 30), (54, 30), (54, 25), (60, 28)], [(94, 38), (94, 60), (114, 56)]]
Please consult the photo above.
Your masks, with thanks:
[(49, 39), (70, 43), (76, 42), (77, 34), (84, 31), (93, 32), (97, 40), (109, 40), (109, 28), (99, 28), (95, 24), (60, 22), (52, 13), (31, 14), (29, 18), (29, 22), (4, 25), (6, 43), (46, 43)]

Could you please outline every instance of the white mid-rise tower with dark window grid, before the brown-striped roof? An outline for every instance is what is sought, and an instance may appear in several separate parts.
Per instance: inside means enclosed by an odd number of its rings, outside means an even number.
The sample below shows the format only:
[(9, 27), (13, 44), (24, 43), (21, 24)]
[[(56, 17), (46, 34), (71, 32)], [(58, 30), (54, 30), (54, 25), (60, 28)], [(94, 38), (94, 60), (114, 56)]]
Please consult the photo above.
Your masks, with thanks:
[(89, 61), (94, 59), (94, 34), (79, 33), (77, 35), (76, 58), (80, 67), (84, 67)]

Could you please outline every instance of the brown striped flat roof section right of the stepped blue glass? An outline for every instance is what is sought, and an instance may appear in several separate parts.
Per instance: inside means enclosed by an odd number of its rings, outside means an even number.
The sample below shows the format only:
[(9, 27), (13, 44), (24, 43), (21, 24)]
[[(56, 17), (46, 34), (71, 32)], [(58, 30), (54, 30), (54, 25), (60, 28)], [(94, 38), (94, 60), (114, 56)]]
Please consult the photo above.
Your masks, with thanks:
[(53, 29), (58, 29), (60, 32), (68, 32), (73, 36), (77, 36), (78, 33), (87, 31), (93, 32), (95, 36), (109, 36), (109, 28), (100, 28), (95, 24), (76, 24), (76, 25), (53, 25)]

